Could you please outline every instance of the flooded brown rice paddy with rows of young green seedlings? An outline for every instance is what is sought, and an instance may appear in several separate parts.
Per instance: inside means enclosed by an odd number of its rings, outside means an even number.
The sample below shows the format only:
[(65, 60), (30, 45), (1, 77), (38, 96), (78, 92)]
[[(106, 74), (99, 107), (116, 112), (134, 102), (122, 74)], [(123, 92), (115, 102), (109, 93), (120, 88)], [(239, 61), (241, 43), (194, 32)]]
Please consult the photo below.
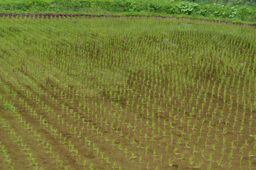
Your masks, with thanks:
[(0, 18), (0, 169), (256, 169), (256, 30)]

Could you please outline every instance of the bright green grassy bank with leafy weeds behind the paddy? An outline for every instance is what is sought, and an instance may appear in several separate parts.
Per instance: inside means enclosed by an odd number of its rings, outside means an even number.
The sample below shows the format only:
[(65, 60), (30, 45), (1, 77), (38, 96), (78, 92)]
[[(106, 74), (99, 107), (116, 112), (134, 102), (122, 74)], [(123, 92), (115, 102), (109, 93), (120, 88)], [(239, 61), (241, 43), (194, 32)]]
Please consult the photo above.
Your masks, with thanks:
[(0, 2), (1, 12), (114, 13), (126, 16), (188, 16), (192, 18), (225, 18), (230, 21), (256, 22), (255, 6), (223, 6), (184, 1), (141, 0), (33, 0)]

